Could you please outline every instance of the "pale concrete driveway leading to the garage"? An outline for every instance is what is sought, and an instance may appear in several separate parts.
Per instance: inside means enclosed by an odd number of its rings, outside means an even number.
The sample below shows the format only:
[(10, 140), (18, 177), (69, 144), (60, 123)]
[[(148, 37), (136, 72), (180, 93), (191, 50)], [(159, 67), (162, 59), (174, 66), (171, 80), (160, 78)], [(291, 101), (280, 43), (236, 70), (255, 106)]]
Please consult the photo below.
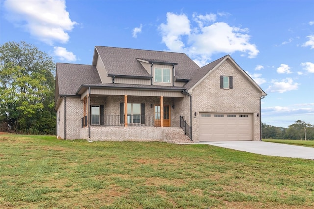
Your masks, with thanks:
[(261, 155), (314, 160), (314, 148), (312, 147), (295, 146), (264, 141), (209, 141), (198, 142), (198, 144), (209, 144), (213, 146), (219, 146)]

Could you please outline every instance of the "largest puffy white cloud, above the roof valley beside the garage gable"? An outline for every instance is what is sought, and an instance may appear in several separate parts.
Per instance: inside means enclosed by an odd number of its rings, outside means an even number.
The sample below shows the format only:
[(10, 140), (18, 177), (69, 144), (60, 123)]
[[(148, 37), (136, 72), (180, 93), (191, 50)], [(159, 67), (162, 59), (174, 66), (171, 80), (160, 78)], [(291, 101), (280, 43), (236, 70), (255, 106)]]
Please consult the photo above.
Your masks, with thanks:
[[(162, 23), (159, 30), (162, 42), (170, 51), (184, 52), (200, 65), (205, 65), (215, 53), (234, 53), (240, 51), (249, 58), (259, 53), (256, 46), (249, 42), (247, 28), (230, 26), (216, 21), (216, 15), (193, 14), (195, 27), (185, 14), (167, 13), (167, 23)], [(183, 42), (186, 40), (185, 42)], [(187, 46), (186, 46), (187, 45)]]

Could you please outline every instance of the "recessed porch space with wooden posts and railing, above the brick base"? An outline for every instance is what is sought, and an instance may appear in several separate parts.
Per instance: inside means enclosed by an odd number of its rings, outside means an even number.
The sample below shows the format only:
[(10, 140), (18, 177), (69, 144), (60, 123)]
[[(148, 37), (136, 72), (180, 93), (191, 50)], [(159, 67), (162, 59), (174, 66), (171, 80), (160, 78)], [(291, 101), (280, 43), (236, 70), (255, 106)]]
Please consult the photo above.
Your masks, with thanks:
[(179, 109), (176, 110), (175, 105), (179, 100), (163, 96), (92, 95), (89, 99), (84, 98), (82, 128), (88, 125), (179, 127), (181, 113)]

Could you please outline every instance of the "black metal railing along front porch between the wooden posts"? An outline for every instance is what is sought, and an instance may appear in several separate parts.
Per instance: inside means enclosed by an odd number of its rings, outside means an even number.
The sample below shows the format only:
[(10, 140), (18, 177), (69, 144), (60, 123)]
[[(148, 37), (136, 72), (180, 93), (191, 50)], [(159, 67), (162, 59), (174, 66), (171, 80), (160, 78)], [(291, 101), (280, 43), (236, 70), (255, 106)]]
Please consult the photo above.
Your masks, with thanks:
[[(82, 118), (82, 127), (83, 125)], [(150, 126), (160, 127), (160, 116), (145, 116), (145, 115), (129, 115), (127, 116), (128, 126)], [(87, 116), (86, 123), (87, 124)], [(124, 126), (124, 115), (91, 115), (91, 125), (104, 126)], [(86, 125), (85, 125), (86, 126)]]

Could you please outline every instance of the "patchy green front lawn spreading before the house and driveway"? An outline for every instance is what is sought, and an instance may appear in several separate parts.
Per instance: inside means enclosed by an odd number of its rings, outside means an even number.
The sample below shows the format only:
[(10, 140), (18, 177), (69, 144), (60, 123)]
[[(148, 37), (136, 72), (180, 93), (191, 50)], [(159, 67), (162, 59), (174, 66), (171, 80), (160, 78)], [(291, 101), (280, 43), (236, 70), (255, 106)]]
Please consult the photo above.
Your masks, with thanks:
[(314, 208), (314, 161), (203, 145), (0, 135), (0, 208)]

